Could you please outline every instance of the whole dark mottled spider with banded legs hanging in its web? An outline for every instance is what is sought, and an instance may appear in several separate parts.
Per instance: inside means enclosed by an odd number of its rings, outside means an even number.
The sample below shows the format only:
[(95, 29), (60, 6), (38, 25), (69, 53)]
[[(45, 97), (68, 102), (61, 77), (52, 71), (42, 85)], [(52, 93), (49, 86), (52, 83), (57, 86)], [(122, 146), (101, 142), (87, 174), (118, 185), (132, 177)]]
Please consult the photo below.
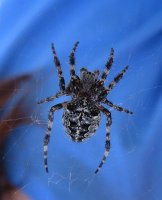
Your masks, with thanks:
[(47, 97), (38, 102), (38, 104), (52, 101), (60, 96), (71, 96), (71, 101), (65, 101), (58, 103), (51, 107), (48, 114), (48, 127), (44, 137), (44, 167), (48, 172), (47, 164), (47, 152), (48, 143), (50, 141), (50, 135), (52, 130), (52, 124), (54, 119), (55, 111), (64, 109), (62, 115), (62, 122), (68, 136), (74, 142), (83, 142), (90, 138), (96, 132), (99, 122), (100, 113), (102, 112), (106, 118), (106, 141), (105, 141), (105, 152), (104, 156), (98, 165), (95, 173), (101, 169), (104, 164), (110, 150), (110, 127), (112, 124), (112, 118), (110, 111), (103, 107), (101, 104), (106, 104), (120, 112), (133, 114), (129, 110), (126, 110), (120, 106), (114, 105), (106, 97), (114, 86), (122, 79), (125, 72), (128, 70), (126, 66), (108, 85), (104, 86), (104, 82), (113, 64), (114, 49), (111, 48), (109, 59), (105, 65), (105, 69), (99, 78), (99, 70), (93, 72), (88, 71), (86, 68), (80, 69), (80, 77), (75, 73), (75, 51), (79, 42), (76, 42), (72, 48), (70, 54), (70, 82), (65, 86), (65, 80), (61, 69), (60, 61), (56, 55), (54, 44), (51, 44), (52, 53), (54, 57), (54, 63), (56, 65), (60, 91), (54, 96)]

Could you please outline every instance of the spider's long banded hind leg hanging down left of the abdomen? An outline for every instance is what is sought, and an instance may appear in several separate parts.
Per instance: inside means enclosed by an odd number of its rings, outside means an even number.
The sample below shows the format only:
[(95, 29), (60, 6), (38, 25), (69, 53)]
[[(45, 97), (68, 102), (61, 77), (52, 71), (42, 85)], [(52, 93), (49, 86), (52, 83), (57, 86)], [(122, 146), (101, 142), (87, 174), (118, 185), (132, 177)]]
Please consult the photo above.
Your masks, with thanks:
[(47, 132), (44, 137), (44, 167), (46, 172), (48, 172), (48, 163), (47, 163), (47, 152), (48, 152), (48, 143), (50, 141), (50, 135), (51, 135), (51, 129), (54, 119), (54, 113), (56, 110), (59, 110), (63, 108), (68, 102), (59, 103), (51, 107), (50, 112), (48, 114), (48, 126), (47, 126)]

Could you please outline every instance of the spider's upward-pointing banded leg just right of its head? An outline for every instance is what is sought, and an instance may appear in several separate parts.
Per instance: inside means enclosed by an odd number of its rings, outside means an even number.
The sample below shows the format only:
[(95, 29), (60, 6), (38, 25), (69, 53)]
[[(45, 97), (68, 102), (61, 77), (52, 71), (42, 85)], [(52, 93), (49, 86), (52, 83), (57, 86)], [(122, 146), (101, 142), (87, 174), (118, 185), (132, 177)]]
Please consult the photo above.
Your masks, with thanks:
[(102, 73), (102, 76), (101, 76), (101, 79), (100, 79), (100, 82), (102, 84), (104, 83), (104, 81), (107, 78), (107, 75), (108, 75), (108, 73), (109, 73), (109, 71), (111, 69), (111, 66), (113, 64), (113, 60), (114, 60), (114, 49), (111, 48), (109, 60), (107, 61), (106, 65), (105, 65), (104, 72)]

